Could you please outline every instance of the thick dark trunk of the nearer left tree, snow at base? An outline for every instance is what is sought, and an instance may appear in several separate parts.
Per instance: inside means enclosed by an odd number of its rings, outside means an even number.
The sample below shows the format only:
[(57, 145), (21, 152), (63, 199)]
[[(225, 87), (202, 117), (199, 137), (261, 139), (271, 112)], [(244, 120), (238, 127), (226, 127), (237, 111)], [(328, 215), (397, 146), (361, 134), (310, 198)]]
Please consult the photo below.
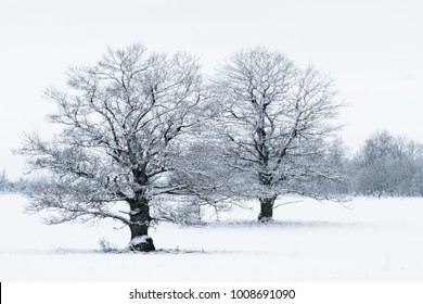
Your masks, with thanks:
[(149, 200), (144, 195), (138, 195), (128, 202), (130, 205), (129, 219), (131, 221), (129, 225), (131, 230), (129, 249), (143, 252), (154, 251), (153, 239), (149, 236), (150, 223), (152, 220)]

